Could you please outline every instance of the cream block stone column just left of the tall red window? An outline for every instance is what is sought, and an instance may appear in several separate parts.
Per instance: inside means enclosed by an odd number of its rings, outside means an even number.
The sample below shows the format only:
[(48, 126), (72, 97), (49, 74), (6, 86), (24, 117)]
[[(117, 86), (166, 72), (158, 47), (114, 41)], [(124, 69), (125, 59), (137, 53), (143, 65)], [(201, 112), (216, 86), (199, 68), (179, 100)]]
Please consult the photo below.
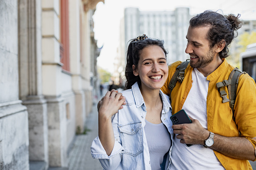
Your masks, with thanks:
[(62, 97), (59, 0), (42, 1), (42, 94), (47, 100), (50, 166), (67, 166), (66, 113)]

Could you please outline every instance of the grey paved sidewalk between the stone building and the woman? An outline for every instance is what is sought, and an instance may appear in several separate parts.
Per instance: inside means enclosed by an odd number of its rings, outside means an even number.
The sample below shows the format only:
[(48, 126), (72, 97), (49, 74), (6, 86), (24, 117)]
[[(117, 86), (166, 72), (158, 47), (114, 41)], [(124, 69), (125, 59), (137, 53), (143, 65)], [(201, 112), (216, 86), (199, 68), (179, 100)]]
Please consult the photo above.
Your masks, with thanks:
[(91, 145), (95, 137), (98, 136), (98, 111), (97, 104), (87, 117), (86, 126), (90, 131), (87, 134), (76, 135), (71, 151), (68, 155), (69, 170), (103, 169), (98, 159), (93, 159), (91, 155)]

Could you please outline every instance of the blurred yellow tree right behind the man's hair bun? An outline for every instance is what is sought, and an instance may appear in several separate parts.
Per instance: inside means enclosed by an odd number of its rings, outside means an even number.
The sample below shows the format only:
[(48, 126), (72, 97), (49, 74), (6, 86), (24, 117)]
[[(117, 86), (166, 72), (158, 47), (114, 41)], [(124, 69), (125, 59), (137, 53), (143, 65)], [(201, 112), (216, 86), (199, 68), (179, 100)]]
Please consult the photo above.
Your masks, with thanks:
[(234, 67), (239, 68), (240, 54), (246, 50), (247, 45), (252, 43), (256, 43), (256, 32), (244, 32), (239, 35), (237, 42), (232, 42), (230, 45), (230, 56), (227, 57), (227, 61)]

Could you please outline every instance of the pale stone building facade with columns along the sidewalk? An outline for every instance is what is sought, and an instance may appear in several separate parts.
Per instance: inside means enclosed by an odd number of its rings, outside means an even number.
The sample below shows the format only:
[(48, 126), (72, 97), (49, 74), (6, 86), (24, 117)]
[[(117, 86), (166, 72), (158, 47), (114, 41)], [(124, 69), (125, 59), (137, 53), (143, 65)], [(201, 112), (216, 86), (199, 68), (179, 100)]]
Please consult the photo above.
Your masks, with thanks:
[(99, 2), (0, 1), (0, 169), (67, 167), (93, 104)]

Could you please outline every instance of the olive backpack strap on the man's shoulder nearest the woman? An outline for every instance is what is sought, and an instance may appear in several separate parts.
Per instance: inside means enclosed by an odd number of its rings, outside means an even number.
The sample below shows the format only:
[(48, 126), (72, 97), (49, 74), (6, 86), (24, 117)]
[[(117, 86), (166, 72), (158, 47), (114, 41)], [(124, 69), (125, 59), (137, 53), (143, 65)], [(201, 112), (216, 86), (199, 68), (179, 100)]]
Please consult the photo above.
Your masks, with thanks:
[[(168, 89), (170, 90), (170, 94), (172, 94), (172, 91), (174, 89), (174, 87), (176, 86), (177, 81), (180, 81), (182, 83), (182, 81), (184, 80), (184, 75), (185, 75), (185, 70), (188, 67), (189, 61), (186, 60), (184, 62), (182, 62), (177, 68), (176, 71), (172, 77), (172, 79), (170, 79), (169, 85), (168, 85)], [(169, 99), (170, 99), (170, 94), (169, 94)], [(171, 99), (170, 99), (170, 103), (172, 103)]]

